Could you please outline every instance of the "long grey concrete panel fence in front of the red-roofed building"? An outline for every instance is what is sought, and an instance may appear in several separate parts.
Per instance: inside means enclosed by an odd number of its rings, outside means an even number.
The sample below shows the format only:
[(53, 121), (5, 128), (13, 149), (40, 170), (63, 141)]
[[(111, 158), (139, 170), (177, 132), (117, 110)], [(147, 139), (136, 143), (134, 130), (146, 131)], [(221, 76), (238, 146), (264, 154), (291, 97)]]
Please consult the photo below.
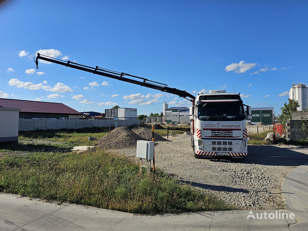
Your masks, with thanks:
[(50, 119), (19, 119), (18, 131), (81, 129), (93, 127), (115, 128), (132, 126), (140, 120), (50, 120)]

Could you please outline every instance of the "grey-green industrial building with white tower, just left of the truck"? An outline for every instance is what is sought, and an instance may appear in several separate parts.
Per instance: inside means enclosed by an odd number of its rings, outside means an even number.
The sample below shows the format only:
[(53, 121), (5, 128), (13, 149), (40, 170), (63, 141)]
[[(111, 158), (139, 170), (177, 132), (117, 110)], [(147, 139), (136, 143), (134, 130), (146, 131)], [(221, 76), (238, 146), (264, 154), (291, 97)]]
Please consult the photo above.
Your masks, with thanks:
[(188, 122), (189, 119), (189, 108), (188, 107), (170, 107), (168, 103), (163, 103), (163, 122), (176, 123), (176, 122)]

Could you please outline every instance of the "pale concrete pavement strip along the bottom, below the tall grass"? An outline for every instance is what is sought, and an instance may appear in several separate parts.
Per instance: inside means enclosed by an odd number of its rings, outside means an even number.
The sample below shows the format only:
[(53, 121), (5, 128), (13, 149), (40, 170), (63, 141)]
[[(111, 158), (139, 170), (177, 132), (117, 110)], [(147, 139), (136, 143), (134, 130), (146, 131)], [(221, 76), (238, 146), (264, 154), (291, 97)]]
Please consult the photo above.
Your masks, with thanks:
[[(253, 210), (254, 216), (265, 210)], [(275, 210), (267, 210), (273, 212)], [(291, 212), (291, 211), (289, 211)], [(294, 212), (294, 211), (292, 211)], [(296, 212), (294, 212), (296, 215)], [(286, 219), (246, 219), (249, 210), (181, 215), (134, 216), (83, 205), (56, 205), (13, 194), (0, 194), (1, 231), (83, 230), (277, 230), (289, 231)], [(290, 222), (289, 222), (290, 223)]]

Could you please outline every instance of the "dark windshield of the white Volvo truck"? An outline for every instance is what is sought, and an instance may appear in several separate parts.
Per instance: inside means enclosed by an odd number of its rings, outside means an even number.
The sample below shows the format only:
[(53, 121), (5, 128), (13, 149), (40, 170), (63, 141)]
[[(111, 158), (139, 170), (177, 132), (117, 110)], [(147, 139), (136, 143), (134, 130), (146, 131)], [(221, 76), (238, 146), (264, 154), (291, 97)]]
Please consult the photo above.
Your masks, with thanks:
[(198, 119), (205, 121), (245, 120), (245, 111), (239, 103), (206, 103), (198, 106)]

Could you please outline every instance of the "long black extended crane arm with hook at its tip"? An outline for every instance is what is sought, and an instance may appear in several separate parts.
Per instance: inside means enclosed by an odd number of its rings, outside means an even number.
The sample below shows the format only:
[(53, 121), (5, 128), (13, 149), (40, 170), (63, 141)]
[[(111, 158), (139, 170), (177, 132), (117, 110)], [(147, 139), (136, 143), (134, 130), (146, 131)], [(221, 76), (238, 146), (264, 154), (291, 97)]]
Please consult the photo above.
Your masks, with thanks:
[[(124, 81), (124, 82), (133, 83), (133, 84), (137, 84), (137, 85), (144, 86), (144, 87), (149, 87), (149, 88), (156, 89), (156, 90), (159, 90), (159, 91), (178, 95), (178, 96), (185, 98), (185, 99), (187, 99), (187, 97), (188, 97), (188, 98), (190, 98), (188, 100), (191, 101), (191, 102), (193, 102), (193, 100), (196, 99), (196, 97), (194, 95), (191, 95), (187, 91), (168, 87), (168, 85), (166, 85), (164, 83), (154, 82), (154, 81), (144, 79), (144, 78), (141, 78), (141, 77), (138, 77), (138, 76), (135, 76), (135, 75), (126, 74), (124, 72), (111, 71), (111, 70), (108, 70), (108, 69), (105, 69), (105, 68), (100, 68), (98, 66), (96, 66), (95, 68), (94, 67), (88, 67), (88, 66), (85, 66), (85, 65), (82, 65), (82, 64), (79, 64), (79, 63), (71, 62), (71, 61), (65, 61), (65, 60), (61, 60), (61, 59), (52, 58), (52, 57), (49, 57), (49, 56), (46, 56), (46, 55), (40, 55), (39, 53), (37, 54), (36, 59), (35, 59), (35, 56), (34, 56), (34, 60), (35, 60), (35, 63), (36, 63), (36, 69), (39, 69), (39, 67), (38, 67), (38, 65), (39, 65), (38, 60), (39, 59), (47, 61), (47, 62), (51, 62), (51, 63), (57, 63), (57, 64), (60, 64), (60, 65), (66, 66), (66, 67), (75, 68), (75, 69), (78, 69), (78, 70), (81, 70), (81, 71), (87, 71), (87, 72), (90, 72), (90, 73), (93, 73), (93, 74), (96, 74), (96, 75), (102, 75), (102, 76), (109, 77), (109, 78), (112, 78), (112, 79), (117, 79), (117, 80), (121, 80), (121, 81)], [(138, 80), (135, 80), (135, 79), (129, 79), (129, 78), (126, 78), (124, 76), (130, 76), (130, 77), (133, 77), (133, 78), (142, 79), (143, 81), (138, 81)], [(151, 82), (151, 83), (148, 83), (148, 82)]]

